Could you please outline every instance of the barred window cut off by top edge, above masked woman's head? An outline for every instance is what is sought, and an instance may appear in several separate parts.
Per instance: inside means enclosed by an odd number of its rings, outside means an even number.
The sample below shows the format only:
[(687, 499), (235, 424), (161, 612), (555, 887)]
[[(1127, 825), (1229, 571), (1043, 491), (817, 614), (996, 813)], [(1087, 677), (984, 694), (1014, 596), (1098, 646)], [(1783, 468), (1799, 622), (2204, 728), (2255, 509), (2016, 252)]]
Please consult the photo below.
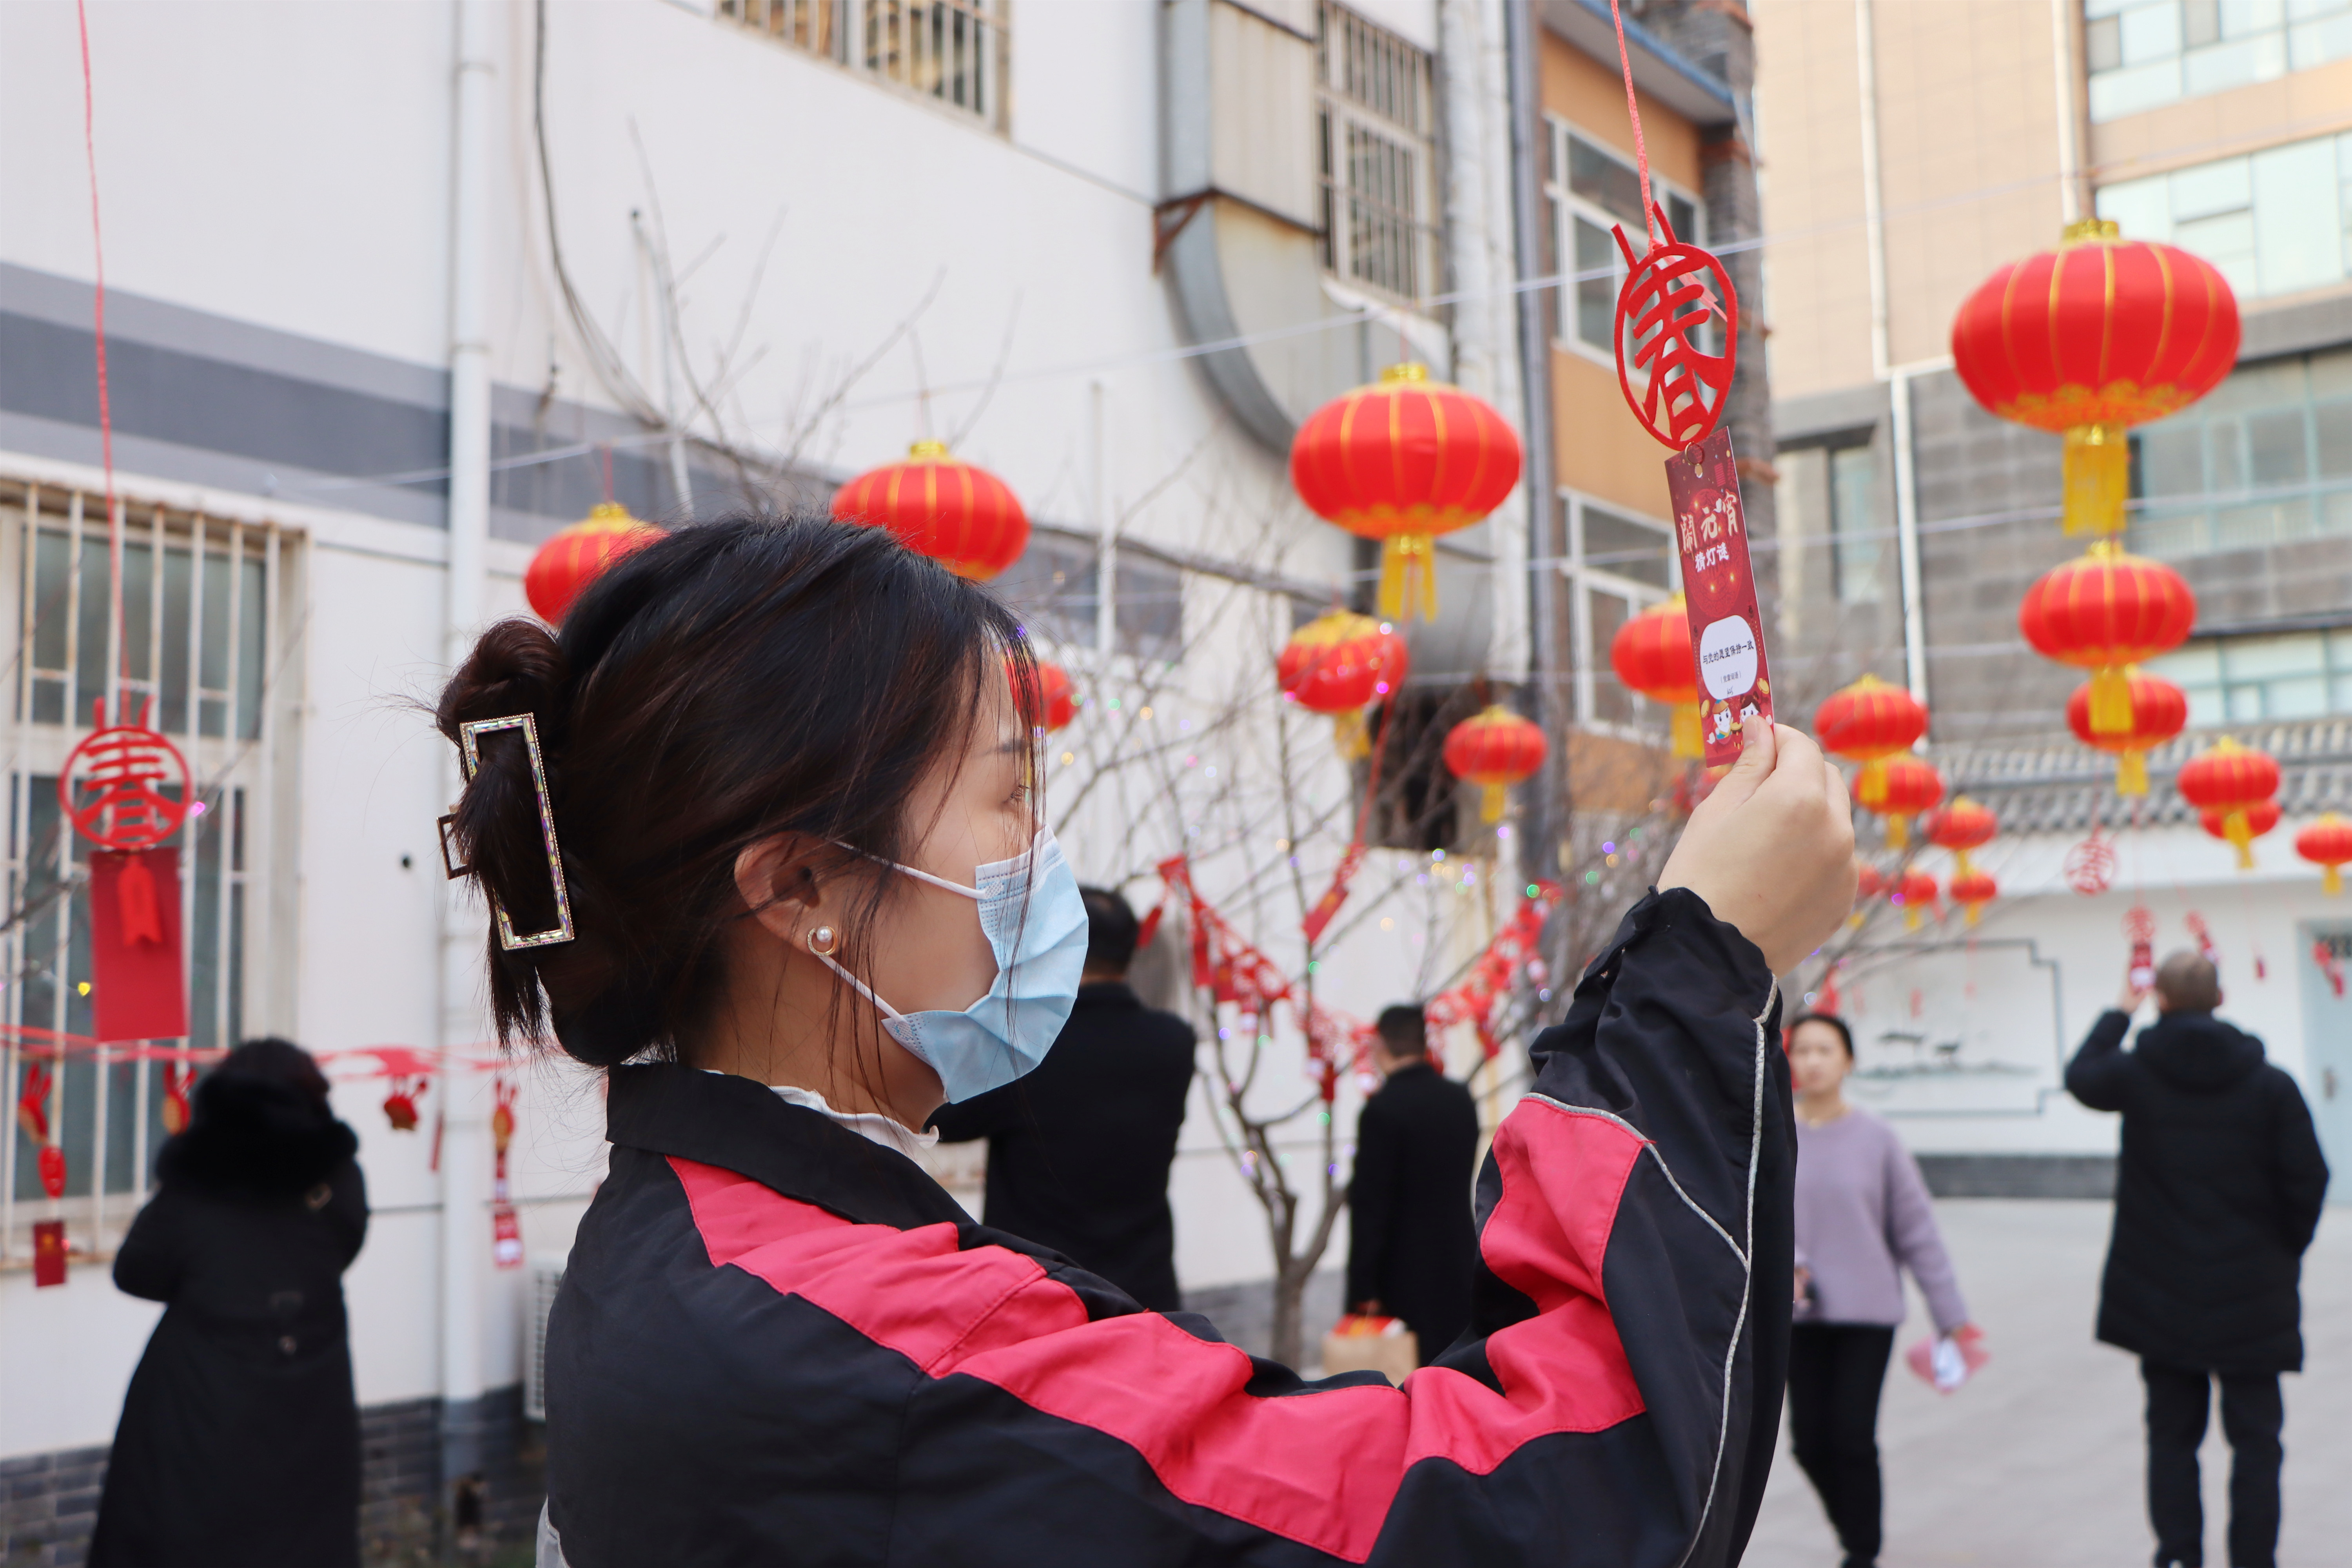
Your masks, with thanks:
[(720, 0), (753, 33), (1004, 125), (1009, 0)]

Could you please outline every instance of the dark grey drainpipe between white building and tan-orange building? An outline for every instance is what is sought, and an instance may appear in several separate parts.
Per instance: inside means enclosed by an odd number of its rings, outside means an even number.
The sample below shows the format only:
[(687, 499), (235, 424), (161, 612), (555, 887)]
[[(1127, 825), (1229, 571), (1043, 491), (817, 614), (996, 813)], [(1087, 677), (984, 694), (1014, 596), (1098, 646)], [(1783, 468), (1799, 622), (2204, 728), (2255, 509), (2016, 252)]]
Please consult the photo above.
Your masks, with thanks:
[(1552, 743), (1536, 773), (1536, 790), (1526, 802), (1519, 839), (1519, 865), (1529, 882), (1559, 877), (1559, 832), (1571, 820), (1569, 811), (1569, 724), (1562, 679), (1566, 675), (1559, 658), (1559, 562), (1569, 555), (1569, 541), (1559, 538), (1559, 501), (1552, 480), (1552, 343), (1543, 329), (1543, 294), (1526, 289), (1529, 277), (1543, 275), (1543, 193), (1536, 188), (1536, 169), (1543, 148), (1536, 141), (1543, 125), (1543, 99), (1536, 85), (1536, 16), (1531, 0), (1503, 0), (1503, 47), (1510, 59), (1510, 207), (1517, 273), (1519, 273), (1519, 397), (1526, 409), (1526, 557), (1529, 614), (1534, 628), (1529, 654), (1534, 656), (1534, 705), (1536, 724)]

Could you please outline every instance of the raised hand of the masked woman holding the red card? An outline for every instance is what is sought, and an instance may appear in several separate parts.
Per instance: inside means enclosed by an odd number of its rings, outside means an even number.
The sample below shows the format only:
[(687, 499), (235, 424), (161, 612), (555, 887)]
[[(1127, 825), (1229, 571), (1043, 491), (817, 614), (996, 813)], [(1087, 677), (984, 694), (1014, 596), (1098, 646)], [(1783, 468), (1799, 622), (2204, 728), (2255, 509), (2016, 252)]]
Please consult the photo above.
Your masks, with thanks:
[(1853, 910), (1853, 875), (1846, 776), (1811, 738), (1748, 719), (1740, 759), (1691, 811), (1658, 891), (1691, 889), (1785, 976)]

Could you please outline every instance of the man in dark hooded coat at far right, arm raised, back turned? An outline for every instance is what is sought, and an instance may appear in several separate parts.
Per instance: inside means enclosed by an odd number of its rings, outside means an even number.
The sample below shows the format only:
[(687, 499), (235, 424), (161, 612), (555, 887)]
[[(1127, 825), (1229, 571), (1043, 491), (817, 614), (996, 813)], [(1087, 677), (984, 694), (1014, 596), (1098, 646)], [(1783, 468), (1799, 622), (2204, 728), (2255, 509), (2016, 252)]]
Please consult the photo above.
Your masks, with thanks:
[(2303, 1371), (2303, 1251), (2328, 1166), (2296, 1081), (2263, 1041), (2218, 1018), (2211, 959), (2157, 971), (2157, 1023), (2126, 1053), (2143, 992), (2129, 980), (2065, 1070), (2091, 1110), (2124, 1112), (2114, 1237), (2098, 1338), (2140, 1356), (2147, 1382), (2147, 1516), (2157, 1563), (2204, 1561), (2197, 1446), (2220, 1378), (2230, 1439), (2230, 1566), (2270, 1568), (2279, 1544), (2279, 1373)]

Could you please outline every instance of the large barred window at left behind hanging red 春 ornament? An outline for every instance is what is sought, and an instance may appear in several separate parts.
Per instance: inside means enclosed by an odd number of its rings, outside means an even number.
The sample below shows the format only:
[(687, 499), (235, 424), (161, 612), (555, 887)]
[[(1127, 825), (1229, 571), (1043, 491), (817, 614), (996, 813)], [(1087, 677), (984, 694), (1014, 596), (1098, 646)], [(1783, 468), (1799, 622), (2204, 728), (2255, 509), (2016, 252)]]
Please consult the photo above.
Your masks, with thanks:
[[(285, 557), (275, 527), (125, 503), (122, 649), (108, 670), (103, 501), (0, 480), (0, 588), (16, 602), (0, 1065), (12, 1107), (35, 1063), (52, 1072), (49, 1124), (66, 1154), (66, 1197), (52, 1204), (38, 1143), (16, 1117), (0, 1124), (0, 1262), (28, 1255), (24, 1227), (52, 1211), (75, 1255), (113, 1246), (165, 1135), (162, 1065), (89, 1044), (89, 844), (64, 820), (56, 776), (101, 703), (143, 712), (195, 778), (195, 806), (172, 839), (188, 945), (186, 1044), (216, 1048), (245, 1034), (256, 947), (247, 931), (270, 877), (280, 764), (270, 691), (282, 663), (273, 604)], [(54, 1037), (66, 1037), (64, 1051)]]

